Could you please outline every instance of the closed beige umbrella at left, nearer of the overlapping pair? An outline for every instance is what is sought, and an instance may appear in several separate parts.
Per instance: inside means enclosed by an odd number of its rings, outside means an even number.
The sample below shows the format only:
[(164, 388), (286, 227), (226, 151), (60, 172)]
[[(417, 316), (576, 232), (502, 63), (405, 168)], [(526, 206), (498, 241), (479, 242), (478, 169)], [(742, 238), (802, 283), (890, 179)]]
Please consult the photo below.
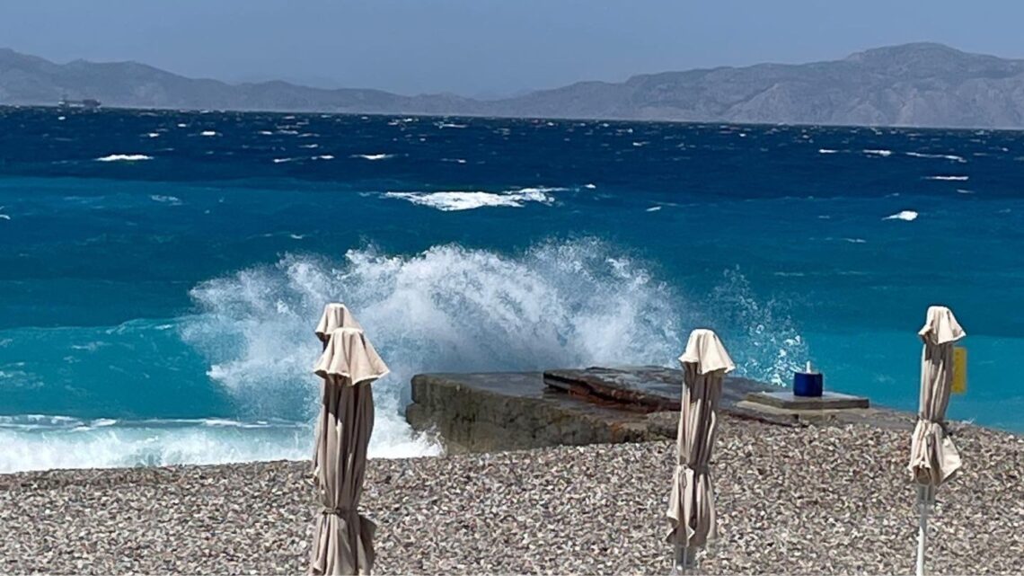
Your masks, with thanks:
[(324, 378), (324, 401), (313, 457), (321, 511), (309, 573), (370, 574), (376, 526), (357, 507), (374, 427), (370, 384), (388, 369), (362, 330), (338, 328), (313, 370)]

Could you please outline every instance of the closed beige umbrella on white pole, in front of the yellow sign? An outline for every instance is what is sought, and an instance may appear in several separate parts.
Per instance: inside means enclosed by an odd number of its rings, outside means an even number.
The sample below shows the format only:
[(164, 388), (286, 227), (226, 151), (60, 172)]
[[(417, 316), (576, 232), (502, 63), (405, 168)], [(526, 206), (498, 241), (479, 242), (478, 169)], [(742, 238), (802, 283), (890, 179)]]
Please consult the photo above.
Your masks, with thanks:
[(946, 436), (945, 418), (953, 379), (953, 342), (967, 334), (952, 311), (945, 306), (929, 307), (925, 326), (918, 334), (925, 342), (921, 357), (921, 408), (907, 468), (918, 485), (916, 572), (920, 576), (925, 572), (928, 515), (935, 502), (935, 491), (961, 467), (956, 447)]

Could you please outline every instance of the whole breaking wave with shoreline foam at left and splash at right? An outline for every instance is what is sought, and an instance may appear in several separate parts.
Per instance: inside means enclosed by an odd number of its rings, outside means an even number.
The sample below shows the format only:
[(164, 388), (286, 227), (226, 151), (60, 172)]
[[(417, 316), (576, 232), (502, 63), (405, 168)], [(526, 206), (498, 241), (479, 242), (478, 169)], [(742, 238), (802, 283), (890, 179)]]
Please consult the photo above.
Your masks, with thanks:
[[(552, 367), (675, 366), (688, 331), (722, 334), (737, 372), (782, 382), (807, 359), (785, 307), (728, 271), (691, 300), (642, 260), (594, 239), (505, 254), (458, 245), (394, 255), (286, 254), (196, 286), (195, 314), (163, 322), (198, 353), (230, 413), (193, 420), (0, 420), (0, 471), (307, 458), (319, 380), (310, 370), (324, 303), (348, 304), (391, 373), (375, 382), (372, 457), (436, 454), (403, 418), (414, 374)], [(174, 368), (174, 365), (169, 365)], [(46, 421), (40, 420), (44, 418)], [(48, 419), (47, 419), (48, 418)]]

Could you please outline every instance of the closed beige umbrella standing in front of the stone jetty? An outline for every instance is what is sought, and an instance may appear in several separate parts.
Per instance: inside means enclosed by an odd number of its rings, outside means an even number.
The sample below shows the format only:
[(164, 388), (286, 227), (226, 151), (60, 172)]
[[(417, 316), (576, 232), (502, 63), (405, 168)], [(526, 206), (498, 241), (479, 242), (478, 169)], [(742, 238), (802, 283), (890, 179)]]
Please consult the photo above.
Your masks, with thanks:
[(676, 469), (666, 516), (671, 525), (667, 540), (675, 545), (674, 566), (685, 569), (693, 565), (696, 551), (717, 536), (715, 495), (708, 465), (715, 446), (722, 380), (735, 365), (711, 330), (691, 332), (679, 362), (683, 367), (683, 398)]

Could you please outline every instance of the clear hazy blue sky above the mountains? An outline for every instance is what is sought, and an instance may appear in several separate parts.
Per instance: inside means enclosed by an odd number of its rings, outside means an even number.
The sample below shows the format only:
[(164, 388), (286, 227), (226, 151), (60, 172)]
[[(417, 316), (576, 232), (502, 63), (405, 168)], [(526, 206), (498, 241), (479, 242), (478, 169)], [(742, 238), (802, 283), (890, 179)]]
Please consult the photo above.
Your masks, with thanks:
[(935, 41), (1024, 56), (1018, 0), (2, 0), (0, 46), (228, 81), (510, 93)]

